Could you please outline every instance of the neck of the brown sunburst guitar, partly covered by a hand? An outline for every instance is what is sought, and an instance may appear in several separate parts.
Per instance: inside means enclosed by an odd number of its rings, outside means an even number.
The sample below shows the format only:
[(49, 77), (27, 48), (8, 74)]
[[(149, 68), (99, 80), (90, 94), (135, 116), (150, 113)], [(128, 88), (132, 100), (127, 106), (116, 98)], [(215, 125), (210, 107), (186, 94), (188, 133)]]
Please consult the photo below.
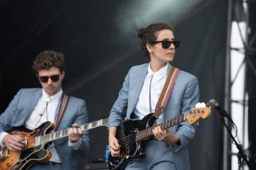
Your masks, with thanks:
[[(79, 128), (81, 128), (84, 131), (86, 130), (90, 130), (92, 128), (97, 128), (99, 126), (107, 126), (108, 124), (108, 120), (97, 120), (97, 121), (94, 121), (94, 122), (90, 122), (88, 124), (83, 124), (82, 126), (79, 126)], [(68, 129), (65, 129), (65, 130), (60, 130), (58, 132), (52, 132), (52, 133), (49, 133), (49, 134), (45, 134), (43, 136), (38, 136), (36, 137), (36, 140), (40, 141), (39, 143), (40, 144), (43, 144), (45, 142), (51, 142), (53, 140), (56, 140), (56, 139), (59, 139), (59, 138), (63, 138), (65, 136), (68, 136)], [(36, 142), (37, 143), (37, 142)]]

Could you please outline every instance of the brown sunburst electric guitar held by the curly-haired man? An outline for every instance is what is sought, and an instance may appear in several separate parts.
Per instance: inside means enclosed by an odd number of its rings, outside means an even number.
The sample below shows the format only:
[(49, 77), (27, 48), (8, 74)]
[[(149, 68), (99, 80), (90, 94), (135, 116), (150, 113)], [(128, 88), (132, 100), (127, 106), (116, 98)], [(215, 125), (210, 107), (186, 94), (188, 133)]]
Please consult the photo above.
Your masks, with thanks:
[[(79, 126), (84, 131), (99, 126), (108, 126), (108, 118), (97, 120)], [(25, 148), (22, 151), (13, 152), (7, 148), (0, 148), (0, 170), (25, 170), (34, 163), (44, 163), (51, 159), (51, 153), (46, 148), (59, 138), (68, 136), (68, 129), (58, 132), (51, 132), (55, 124), (44, 122), (35, 130), (28, 130), (25, 127), (11, 128), (9, 134), (15, 134), (22, 138)]]

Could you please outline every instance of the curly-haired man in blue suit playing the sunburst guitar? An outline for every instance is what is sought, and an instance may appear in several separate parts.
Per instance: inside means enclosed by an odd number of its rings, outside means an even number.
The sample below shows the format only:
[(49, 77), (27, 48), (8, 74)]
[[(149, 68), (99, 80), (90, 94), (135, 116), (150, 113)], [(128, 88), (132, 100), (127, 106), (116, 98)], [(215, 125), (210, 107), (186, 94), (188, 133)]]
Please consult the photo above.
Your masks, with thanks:
[[(45, 122), (52, 122), (56, 125), (54, 132), (66, 131), (67, 134), (58, 133), (57, 140), (53, 140), (49, 146), (45, 145), (45, 149), (49, 151), (48, 155), (43, 155), (46, 158), (40, 158), (40, 154), (33, 153), (34, 155), (26, 160), (28, 163), (23, 161), (20, 166), (35, 170), (77, 169), (78, 157), (87, 155), (90, 147), (88, 132), (83, 132), (78, 126), (88, 122), (86, 102), (76, 97), (67, 97), (61, 89), (65, 75), (63, 53), (44, 50), (36, 56), (32, 67), (42, 88), (20, 89), (1, 114), (1, 147), (8, 148), (13, 153), (21, 152), (26, 148), (26, 144), (21, 136), (8, 133), (10, 128), (24, 126), (28, 130), (34, 130)], [(11, 166), (9, 163), (9, 167)]]

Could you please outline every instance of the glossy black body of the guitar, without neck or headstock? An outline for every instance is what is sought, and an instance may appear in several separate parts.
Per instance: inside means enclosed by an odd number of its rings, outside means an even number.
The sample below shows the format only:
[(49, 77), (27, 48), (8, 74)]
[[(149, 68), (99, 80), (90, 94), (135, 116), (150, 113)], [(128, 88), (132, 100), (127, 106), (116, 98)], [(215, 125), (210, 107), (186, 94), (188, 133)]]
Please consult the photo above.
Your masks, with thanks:
[(121, 145), (120, 155), (119, 157), (112, 157), (111, 154), (109, 154), (109, 169), (123, 170), (131, 159), (146, 156), (144, 149), (146, 147), (146, 140), (148, 140), (149, 137), (139, 141), (136, 141), (135, 137), (137, 132), (153, 126), (156, 119), (154, 114), (148, 114), (142, 120), (127, 120), (123, 122), (124, 130), (118, 128), (116, 134), (116, 138)]

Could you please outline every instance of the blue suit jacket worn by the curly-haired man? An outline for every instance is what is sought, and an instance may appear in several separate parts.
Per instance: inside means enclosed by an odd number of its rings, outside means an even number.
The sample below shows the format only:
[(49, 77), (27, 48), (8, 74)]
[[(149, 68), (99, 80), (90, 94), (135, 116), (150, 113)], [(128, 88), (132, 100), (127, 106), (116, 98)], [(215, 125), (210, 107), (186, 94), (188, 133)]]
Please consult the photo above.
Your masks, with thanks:
[[(0, 116), (0, 133), (11, 127), (23, 126), (32, 114), (41, 95), (42, 89), (40, 88), (20, 89), (9, 103), (8, 108)], [(66, 126), (71, 127), (73, 123), (82, 125), (87, 122), (86, 102), (76, 97), (69, 97), (67, 109), (56, 131), (63, 130)], [(87, 155), (90, 148), (88, 132), (84, 132), (79, 150), (74, 150), (71, 146), (68, 146), (67, 137), (54, 140), (54, 142), (63, 163), (63, 169), (66, 170), (77, 169), (78, 156)]]

